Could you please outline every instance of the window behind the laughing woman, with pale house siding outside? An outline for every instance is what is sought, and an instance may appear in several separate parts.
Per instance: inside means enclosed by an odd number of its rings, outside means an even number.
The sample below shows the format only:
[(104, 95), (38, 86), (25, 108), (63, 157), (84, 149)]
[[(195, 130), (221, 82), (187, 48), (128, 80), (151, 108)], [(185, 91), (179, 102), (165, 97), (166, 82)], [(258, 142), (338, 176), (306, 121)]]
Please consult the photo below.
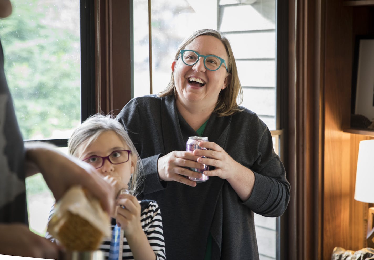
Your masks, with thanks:
[[(148, 1), (134, 0), (134, 96), (166, 87), (175, 52), (185, 37), (204, 28), (218, 30), (233, 48), (244, 92), (242, 106), (255, 111), (272, 130), (279, 154), (276, 5), (276, 0), (151, 1), (149, 37)], [(255, 214), (255, 223), (260, 259), (280, 259), (277, 219)]]

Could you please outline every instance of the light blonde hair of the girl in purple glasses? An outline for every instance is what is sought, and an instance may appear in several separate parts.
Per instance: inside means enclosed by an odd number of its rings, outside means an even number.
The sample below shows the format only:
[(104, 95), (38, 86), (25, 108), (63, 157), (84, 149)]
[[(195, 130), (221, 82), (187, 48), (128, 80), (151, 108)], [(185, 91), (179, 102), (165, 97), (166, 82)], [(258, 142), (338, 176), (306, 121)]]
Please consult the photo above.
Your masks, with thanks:
[[(141, 174), (141, 163), (139, 160), (139, 154), (131, 141), (128, 133), (121, 123), (119, 123), (111, 115), (95, 114), (87, 118), (77, 129), (73, 131), (68, 141), (68, 153), (79, 157), (80, 151), (85, 151), (94, 142), (97, 137), (106, 131), (113, 131), (117, 136), (122, 139), (131, 150), (131, 160), (135, 163), (134, 173), (132, 173), (129, 185), (129, 190), (133, 195), (140, 194), (140, 186), (144, 180), (143, 174)], [(83, 145), (83, 147), (82, 147)]]

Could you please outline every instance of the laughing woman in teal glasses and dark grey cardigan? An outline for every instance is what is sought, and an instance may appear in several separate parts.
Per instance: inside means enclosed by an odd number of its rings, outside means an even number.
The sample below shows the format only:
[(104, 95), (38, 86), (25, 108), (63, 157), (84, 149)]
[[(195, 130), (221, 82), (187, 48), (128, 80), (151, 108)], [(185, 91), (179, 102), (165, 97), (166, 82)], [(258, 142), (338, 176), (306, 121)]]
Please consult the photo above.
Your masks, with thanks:
[[(132, 99), (117, 116), (145, 171), (143, 198), (162, 211), (168, 259), (259, 259), (254, 212), (278, 217), (290, 195), (272, 136), (238, 106), (242, 88), (227, 38), (200, 30), (180, 45), (158, 95)], [(189, 136), (204, 149), (186, 152)], [(203, 158), (206, 157), (206, 158)], [(203, 169), (209, 180), (190, 168)]]

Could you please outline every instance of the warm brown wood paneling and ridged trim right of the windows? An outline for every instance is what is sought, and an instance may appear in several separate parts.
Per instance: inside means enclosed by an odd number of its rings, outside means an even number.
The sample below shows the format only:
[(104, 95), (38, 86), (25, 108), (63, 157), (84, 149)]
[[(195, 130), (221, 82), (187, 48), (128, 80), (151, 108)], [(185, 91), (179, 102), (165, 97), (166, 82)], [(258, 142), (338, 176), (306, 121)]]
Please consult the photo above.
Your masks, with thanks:
[(350, 121), (354, 38), (373, 33), (373, 13), (342, 0), (296, 0), (296, 252), (290, 249), (290, 259), (328, 260), (334, 247), (366, 246), (368, 204), (354, 200), (354, 189), (358, 143), (372, 137), (343, 129)]

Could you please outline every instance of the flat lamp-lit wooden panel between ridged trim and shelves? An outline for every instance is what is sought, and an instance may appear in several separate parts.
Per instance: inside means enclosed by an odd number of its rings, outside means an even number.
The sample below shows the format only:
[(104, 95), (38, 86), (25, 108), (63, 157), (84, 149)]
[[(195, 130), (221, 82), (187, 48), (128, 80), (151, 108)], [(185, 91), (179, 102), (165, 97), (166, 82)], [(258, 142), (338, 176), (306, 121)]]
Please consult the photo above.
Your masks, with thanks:
[(351, 249), (352, 242), (350, 134), (342, 131), (350, 115), (352, 12), (340, 0), (325, 1), (325, 6), (323, 259), (331, 259), (334, 247)]

